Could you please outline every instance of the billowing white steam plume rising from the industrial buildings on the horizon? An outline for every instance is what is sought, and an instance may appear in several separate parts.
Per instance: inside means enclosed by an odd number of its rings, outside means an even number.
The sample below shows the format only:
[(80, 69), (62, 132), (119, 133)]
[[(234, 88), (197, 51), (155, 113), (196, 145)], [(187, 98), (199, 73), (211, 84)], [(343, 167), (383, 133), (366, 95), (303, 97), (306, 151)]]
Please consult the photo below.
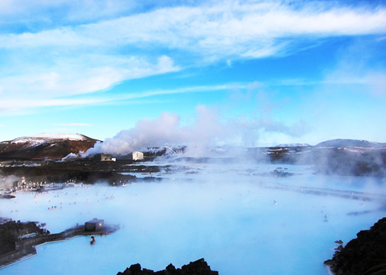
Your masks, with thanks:
[(184, 126), (179, 115), (169, 112), (161, 113), (154, 120), (143, 118), (134, 128), (122, 130), (103, 143), (95, 144), (83, 156), (96, 153), (127, 155), (147, 146), (165, 144), (187, 145), (187, 153), (197, 156), (216, 145), (255, 146), (261, 131), (298, 137), (305, 133), (305, 127), (303, 124), (286, 126), (270, 118), (223, 121), (217, 111), (200, 105), (196, 107), (195, 120), (190, 125)]

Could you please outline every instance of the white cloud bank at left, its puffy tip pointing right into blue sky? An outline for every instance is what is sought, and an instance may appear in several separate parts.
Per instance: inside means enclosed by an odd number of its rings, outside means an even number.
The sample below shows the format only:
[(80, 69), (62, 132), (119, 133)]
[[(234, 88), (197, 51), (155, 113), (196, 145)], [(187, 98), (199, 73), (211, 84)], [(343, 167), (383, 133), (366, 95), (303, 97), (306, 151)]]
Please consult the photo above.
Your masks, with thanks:
[[(87, 56), (84, 63), (61, 58), (57, 67), (48, 72), (30, 72), (21, 69), (17, 76), (0, 78), (2, 97), (26, 94), (32, 98), (54, 98), (87, 94), (108, 89), (123, 80), (143, 78), (154, 74), (176, 72), (171, 58), (161, 56), (155, 62), (141, 58), (119, 58), (114, 56)], [(52, 70), (51, 70), (52, 69)], [(44, 71), (43, 69), (37, 69)]]

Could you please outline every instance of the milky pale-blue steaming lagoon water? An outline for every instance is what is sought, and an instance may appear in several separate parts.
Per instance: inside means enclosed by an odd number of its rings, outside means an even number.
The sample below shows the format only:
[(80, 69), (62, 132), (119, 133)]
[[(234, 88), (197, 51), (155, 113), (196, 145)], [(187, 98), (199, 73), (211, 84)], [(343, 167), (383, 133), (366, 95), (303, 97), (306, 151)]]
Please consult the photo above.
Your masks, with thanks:
[[(47, 223), (50, 232), (93, 218), (121, 228), (96, 236), (95, 245), (90, 236), (39, 245), (0, 275), (116, 274), (134, 263), (163, 270), (201, 258), (221, 275), (325, 275), (334, 241), (347, 243), (385, 216), (384, 179), (314, 175), (312, 166), (170, 167), (152, 175), (162, 181), (77, 184), (1, 200), (1, 217)], [(294, 174), (277, 177), (274, 169)]]

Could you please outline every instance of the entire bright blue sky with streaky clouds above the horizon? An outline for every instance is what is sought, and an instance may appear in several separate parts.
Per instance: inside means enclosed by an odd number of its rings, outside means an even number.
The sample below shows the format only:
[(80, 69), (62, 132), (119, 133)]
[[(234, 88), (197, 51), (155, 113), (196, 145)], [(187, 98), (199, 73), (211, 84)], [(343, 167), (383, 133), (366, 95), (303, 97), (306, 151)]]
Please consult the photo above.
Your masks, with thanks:
[(386, 142), (385, 61), (384, 1), (3, 0), (0, 140)]

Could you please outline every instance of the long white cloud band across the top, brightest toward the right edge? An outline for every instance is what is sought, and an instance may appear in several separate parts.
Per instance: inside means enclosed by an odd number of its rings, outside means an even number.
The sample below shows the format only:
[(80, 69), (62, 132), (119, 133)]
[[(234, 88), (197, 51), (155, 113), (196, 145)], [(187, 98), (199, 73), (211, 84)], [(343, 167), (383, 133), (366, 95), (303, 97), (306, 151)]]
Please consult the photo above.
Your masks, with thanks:
[(386, 31), (385, 8), (312, 7), (312, 2), (298, 9), (278, 2), (235, 2), (161, 8), (37, 33), (4, 34), (0, 36), (0, 47), (156, 43), (183, 50), (210, 50), (212, 54), (218, 48), (222, 54), (242, 55), (253, 47), (275, 46), (274, 39), (291, 36), (384, 34)]

